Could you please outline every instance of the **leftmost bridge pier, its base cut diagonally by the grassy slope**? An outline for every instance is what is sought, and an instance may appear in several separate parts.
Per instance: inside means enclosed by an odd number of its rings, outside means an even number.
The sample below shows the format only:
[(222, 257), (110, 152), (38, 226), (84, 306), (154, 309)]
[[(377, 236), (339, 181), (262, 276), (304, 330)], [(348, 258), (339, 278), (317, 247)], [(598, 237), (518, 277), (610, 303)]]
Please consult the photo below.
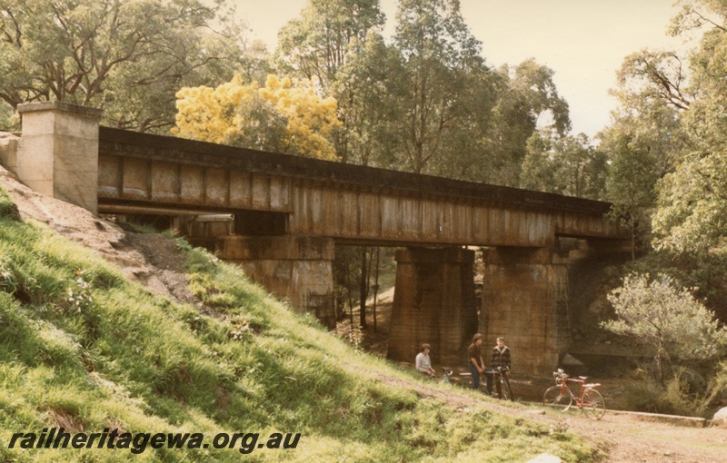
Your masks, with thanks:
[(217, 241), (220, 258), (240, 265), (255, 282), (294, 310), (313, 313), (335, 326), (334, 241), (330, 238), (225, 236)]

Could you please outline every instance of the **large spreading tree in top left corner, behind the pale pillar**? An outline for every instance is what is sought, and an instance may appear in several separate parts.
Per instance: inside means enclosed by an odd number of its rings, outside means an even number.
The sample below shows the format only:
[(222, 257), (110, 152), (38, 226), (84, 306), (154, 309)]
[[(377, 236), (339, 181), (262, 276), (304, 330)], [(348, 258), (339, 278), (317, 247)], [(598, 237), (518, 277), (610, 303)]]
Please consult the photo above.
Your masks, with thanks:
[(179, 87), (232, 76), (241, 33), (224, 0), (5, 0), (0, 99), (93, 105), (105, 123), (158, 131)]

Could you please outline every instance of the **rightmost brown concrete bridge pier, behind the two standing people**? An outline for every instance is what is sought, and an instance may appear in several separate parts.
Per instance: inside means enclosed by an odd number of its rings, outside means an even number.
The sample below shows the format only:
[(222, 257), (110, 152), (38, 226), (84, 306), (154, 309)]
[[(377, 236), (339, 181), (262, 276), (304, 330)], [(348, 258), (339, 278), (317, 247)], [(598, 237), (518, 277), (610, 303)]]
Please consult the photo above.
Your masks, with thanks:
[(503, 336), (514, 371), (550, 375), (568, 348), (567, 260), (549, 249), (496, 248), (483, 261), (485, 344)]

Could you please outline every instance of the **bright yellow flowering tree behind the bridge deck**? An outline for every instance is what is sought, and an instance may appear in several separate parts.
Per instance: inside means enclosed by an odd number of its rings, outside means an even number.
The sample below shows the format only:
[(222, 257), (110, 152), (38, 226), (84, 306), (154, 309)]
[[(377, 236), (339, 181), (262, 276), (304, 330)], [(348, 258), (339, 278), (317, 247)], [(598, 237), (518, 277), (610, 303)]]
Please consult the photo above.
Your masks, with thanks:
[(204, 142), (337, 160), (331, 131), (341, 124), (334, 98), (321, 99), (310, 81), (267, 76), (265, 86), (241, 76), (216, 88), (176, 94), (175, 135)]

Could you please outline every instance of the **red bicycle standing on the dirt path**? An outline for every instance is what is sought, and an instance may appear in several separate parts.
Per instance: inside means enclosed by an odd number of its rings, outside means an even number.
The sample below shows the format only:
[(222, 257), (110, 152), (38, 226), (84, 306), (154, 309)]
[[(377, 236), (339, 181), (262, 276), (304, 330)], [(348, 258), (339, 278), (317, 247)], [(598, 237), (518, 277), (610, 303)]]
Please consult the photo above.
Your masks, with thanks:
[[(568, 378), (563, 369), (553, 372), (556, 386), (551, 386), (543, 394), (543, 405), (554, 409), (566, 411), (571, 408), (573, 402), (579, 409), (583, 410), (592, 419), (602, 419), (606, 413), (606, 402), (603, 400), (598, 388), (601, 384), (585, 384), (587, 377), (579, 376), (578, 379)], [(581, 390), (576, 396), (568, 387), (568, 382), (576, 382), (581, 385)]]

